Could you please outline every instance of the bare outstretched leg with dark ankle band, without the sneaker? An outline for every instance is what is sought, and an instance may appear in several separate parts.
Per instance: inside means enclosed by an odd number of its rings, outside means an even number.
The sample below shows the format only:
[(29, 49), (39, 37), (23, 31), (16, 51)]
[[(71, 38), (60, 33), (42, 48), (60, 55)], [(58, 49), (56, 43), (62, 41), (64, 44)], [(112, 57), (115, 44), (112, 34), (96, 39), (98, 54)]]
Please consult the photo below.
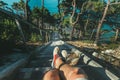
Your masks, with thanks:
[(87, 80), (87, 75), (81, 68), (72, 67), (68, 64), (64, 64), (61, 58), (56, 59), (55, 67), (64, 73), (67, 80), (77, 80), (78, 78)]

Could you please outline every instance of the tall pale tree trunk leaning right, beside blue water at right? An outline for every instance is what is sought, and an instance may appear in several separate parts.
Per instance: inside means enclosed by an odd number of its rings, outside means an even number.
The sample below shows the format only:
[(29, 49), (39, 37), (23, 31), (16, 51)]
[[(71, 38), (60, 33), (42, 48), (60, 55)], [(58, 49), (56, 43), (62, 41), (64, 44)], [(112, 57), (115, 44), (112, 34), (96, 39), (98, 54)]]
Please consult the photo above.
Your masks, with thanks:
[(110, 4), (110, 0), (108, 0), (108, 3), (104, 9), (104, 13), (103, 13), (103, 16), (102, 16), (102, 19), (99, 21), (99, 24), (98, 24), (98, 28), (97, 28), (97, 33), (96, 33), (96, 39), (95, 39), (95, 44), (98, 44), (98, 40), (99, 40), (99, 37), (100, 37), (100, 29), (101, 29), (101, 26), (104, 22), (104, 19), (106, 17), (106, 14), (107, 14), (107, 11), (108, 11), (108, 7), (109, 7), (109, 4)]

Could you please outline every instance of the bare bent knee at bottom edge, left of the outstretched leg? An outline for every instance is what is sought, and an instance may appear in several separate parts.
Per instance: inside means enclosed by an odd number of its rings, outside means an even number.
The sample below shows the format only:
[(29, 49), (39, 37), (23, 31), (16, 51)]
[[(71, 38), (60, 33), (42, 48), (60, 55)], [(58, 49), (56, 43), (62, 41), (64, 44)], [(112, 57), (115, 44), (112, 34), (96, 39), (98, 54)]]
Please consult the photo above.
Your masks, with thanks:
[(60, 80), (59, 72), (57, 69), (53, 69), (45, 73), (43, 80)]

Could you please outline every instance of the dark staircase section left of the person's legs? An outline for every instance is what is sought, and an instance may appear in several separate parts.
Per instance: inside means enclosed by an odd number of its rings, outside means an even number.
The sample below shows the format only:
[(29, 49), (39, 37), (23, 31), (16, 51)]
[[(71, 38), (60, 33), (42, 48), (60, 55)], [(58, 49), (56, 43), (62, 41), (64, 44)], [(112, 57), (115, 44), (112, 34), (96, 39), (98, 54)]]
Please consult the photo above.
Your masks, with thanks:
[(21, 68), (15, 80), (42, 80), (46, 71), (51, 69), (52, 52), (54, 47), (46, 47), (42, 52), (36, 53), (32, 60)]

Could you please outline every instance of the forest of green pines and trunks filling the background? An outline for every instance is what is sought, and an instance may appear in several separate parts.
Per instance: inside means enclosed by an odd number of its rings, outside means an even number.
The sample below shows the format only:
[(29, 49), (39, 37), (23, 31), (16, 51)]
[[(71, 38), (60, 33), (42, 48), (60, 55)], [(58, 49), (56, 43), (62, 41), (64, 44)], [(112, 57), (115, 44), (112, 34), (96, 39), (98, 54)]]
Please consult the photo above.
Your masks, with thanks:
[(0, 1), (0, 44), (16, 45), (23, 40), (23, 34), (25, 42), (48, 42), (54, 31), (64, 40), (89, 40), (95, 44), (120, 40), (119, 0), (57, 0), (57, 13), (50, 13), (44, 0), (41, 7), (30, 9), (30, 1), (14, 2), (11, 8)]

